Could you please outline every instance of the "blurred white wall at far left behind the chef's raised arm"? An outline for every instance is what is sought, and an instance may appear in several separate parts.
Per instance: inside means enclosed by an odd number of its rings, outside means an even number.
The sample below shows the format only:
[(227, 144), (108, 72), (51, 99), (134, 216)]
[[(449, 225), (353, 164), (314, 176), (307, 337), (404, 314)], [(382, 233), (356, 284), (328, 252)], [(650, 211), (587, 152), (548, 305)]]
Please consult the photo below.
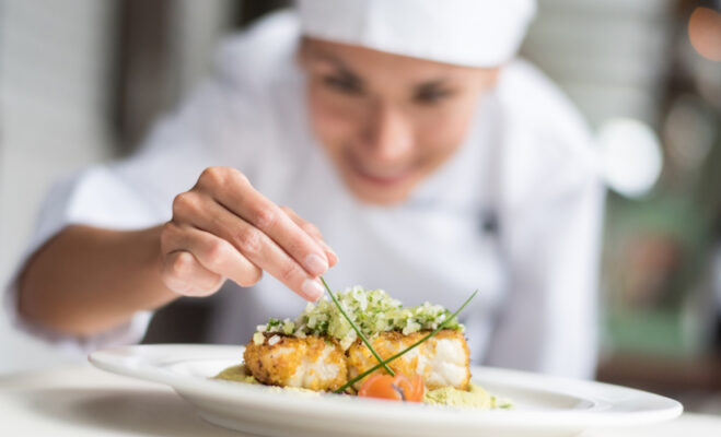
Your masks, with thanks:
[[(0, 1), (0, 282), (53, 180), (111, 155), (114, 2)], [(0, 373), (62, 359), (0, 315)]]

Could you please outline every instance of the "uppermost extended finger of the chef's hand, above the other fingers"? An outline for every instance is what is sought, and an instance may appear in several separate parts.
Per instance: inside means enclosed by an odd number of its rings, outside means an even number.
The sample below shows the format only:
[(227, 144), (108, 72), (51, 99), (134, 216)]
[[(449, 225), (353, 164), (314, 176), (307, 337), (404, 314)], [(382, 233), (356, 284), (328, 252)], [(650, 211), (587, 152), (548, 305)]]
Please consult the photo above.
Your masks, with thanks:
[(278, 205), (251, 186), (239, 170), (210, 167), (203, 170), (197, 187), (245, 222), (269, 236), (305, 271), (317, 277), (328, 270), (324, 248), (301, 229)]

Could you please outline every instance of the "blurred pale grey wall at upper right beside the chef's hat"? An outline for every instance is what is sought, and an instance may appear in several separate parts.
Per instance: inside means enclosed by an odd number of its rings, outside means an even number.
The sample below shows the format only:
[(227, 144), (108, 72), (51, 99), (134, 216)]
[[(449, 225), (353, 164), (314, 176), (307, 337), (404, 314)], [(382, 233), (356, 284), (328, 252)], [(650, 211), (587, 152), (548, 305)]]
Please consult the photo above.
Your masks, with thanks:
[(674, 8), (675, 0), (539, 0), (522, 51), (593, 127), (613, 117), (653, 126)]

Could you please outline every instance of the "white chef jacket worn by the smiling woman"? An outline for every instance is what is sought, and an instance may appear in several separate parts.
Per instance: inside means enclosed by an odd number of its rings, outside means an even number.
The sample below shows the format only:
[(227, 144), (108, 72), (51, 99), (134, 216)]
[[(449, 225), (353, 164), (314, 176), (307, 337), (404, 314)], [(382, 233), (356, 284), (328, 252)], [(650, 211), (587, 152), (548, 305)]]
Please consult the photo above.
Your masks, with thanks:
[[(310, 130), (299, 36), (298, 17), (284, 11), (229, 38), (216, 73), (137, 154), (53, 189), (19, 271), (69, 224), (167, 221), (175, 194), (205, 167), (232, 166), (318, 226), (340, 258), (326, 274), (333, 287), (381, 287), (406, 305), (450, 309), (477, 288), (461, 316), (474, 363), (591, 376), (603, 189), (588, 131), (566, 98), (528, 63), (511, 62), (479, 98), (464, 144), (409, 200), (363, 204)], [(245, 343), (268, 317), (293, 318), (305, 306), (270, 275), (220, 293), (216, 342)], [(151, 317), (141, 311), (109, 332), (70, 338), (18, 315), (16, 280), (5, 297), (19, 328), (81, 351), (137, 342)]]

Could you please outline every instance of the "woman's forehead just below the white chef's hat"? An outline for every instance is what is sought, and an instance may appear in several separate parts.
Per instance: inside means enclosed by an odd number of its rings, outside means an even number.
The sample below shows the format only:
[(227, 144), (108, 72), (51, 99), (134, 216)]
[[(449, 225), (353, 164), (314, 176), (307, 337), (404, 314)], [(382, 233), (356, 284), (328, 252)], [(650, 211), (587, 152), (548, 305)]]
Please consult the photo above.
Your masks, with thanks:
[(349, 70), (360, 76), (375, 75), (422, 82), (445, 78), (464, 78), (482, 73), (485, 69), (454, 66), (427, 59), (388, 54), (361, 46), (304, 38), (302, 49), (310, 61)]

